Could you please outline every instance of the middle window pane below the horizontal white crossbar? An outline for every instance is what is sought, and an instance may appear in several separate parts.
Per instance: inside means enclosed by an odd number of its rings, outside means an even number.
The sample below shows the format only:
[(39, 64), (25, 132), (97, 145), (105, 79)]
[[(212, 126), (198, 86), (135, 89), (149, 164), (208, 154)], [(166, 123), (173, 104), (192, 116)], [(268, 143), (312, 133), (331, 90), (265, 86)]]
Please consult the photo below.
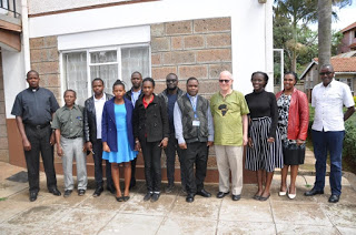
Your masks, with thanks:
[(112, 94), (112, 84), (118, 80), (118, 64), (108, 65), (91, 65), (90, 67), (91, 81), (100, 78), (105, 82), (105, 92)]

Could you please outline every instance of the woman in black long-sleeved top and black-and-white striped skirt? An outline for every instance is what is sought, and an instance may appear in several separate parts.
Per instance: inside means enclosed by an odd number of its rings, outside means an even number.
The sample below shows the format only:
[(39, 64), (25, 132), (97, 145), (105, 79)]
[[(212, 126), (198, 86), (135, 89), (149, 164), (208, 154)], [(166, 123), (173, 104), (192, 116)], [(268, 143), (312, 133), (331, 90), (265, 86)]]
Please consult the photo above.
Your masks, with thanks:
[[(250, 111), (245, 167), (257, 173), (258, 191), (254, 198), (266, 201), (270, 196), (275, 167), (283, 167), (280, 136), (277, 130), (278, 109), (275, 94), (265, 91), (268, 75), (255, 72), (251, 82), (254, 92), (245, 96)], [(264, 172), (267, 172), (265, 187)]]

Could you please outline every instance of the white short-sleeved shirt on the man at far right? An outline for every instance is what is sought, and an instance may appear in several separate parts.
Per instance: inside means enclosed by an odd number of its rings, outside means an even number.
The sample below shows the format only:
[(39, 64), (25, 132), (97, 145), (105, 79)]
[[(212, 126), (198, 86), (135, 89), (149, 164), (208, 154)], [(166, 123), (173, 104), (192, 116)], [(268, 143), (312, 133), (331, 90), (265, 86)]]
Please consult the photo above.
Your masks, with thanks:
[(319, 83), (312, 92), (312, 106), (315, 116), (312, 129), (315, 131), (344, 131), (343, 106), (355, 105), (349, 86), (333, 80), (327, 86)]

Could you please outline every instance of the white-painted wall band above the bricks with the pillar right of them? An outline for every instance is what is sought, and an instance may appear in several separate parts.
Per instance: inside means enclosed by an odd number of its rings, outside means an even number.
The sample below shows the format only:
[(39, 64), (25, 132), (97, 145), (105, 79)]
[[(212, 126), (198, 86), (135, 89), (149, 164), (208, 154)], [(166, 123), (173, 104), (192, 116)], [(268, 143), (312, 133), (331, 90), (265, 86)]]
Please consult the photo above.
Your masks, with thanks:
[[(234, 89), (246, 94), (253, 91), (250, 74), (255, 71), (270, 75), (267, 90), (273, 91), (271, 4), (271, 1), (261, 4), (258, 0), (162, 0), (123, 4), (30, 18), (29, 32), (30, 38), (80, 32), (90, 37), (90, 32), (102, 30), (230, 17)], [(7, 110), (8, 105), (12, 103), (7, 103)]]

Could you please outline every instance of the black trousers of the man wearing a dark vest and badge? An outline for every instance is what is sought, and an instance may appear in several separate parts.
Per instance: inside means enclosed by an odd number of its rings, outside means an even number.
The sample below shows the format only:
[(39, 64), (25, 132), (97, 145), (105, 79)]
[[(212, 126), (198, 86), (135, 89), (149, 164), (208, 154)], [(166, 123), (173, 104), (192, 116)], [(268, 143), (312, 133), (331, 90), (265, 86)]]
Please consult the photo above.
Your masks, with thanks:
[[(207, 142), (187, 143), (187, 150), (182, 150), (188, 194), (195, 194), (204, 188), (204, 180), (207, 175), (208, 152)], [(196, 172), (194, 171), (194, 165), (196, 165)]]

